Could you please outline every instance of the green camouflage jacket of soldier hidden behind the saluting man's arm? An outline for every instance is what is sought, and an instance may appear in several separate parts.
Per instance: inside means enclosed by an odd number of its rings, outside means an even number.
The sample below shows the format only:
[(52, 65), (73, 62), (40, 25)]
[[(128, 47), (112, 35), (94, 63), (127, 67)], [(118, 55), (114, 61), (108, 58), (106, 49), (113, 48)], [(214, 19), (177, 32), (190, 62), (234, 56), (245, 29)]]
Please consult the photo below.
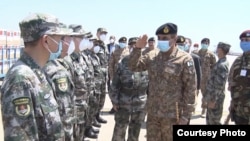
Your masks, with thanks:
[(131, 112), (144, 110), (147, 100), (148, 73), (132, 72), (128, 68), (128, 56), (118, 64), (112, 80), (111, 102)]

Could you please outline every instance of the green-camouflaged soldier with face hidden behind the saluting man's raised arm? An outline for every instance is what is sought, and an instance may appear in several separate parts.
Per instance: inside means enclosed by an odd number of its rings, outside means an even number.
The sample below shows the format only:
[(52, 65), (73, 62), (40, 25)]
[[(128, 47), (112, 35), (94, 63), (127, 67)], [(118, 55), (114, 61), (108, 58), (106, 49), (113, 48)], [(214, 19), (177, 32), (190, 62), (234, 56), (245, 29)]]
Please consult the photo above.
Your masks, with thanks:
[(148, 73), (132, 72), (128, 68), (129, 56), (121, 59), (111, 84), (110, 99), (115, 113), (112, 141), (138, 141), (141, 124), (145, 117), (148, 89)]

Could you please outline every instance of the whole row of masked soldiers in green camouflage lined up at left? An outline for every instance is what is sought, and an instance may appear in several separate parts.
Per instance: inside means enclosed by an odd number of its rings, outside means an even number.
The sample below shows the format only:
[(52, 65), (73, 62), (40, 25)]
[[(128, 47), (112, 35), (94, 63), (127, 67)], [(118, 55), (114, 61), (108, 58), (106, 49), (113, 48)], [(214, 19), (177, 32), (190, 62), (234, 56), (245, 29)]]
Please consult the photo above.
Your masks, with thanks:
[(66, 27), (43, 13), (29, 15), (19, 26), (24, 53), (1, 87), (5, 140), (97, 138), (93, 126), (107, 123), (100, 116), (107, 83), (106, 29), (98, 28), (98, 38), (92, 38), (81, 25)]

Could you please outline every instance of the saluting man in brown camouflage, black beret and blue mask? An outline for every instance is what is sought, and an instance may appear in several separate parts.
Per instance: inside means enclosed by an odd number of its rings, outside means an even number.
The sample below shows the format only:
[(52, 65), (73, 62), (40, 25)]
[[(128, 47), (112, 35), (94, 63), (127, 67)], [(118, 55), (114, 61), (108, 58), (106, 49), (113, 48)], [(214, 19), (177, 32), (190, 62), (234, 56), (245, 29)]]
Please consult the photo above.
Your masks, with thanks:
[(166, 23), (156, 30), (159, 51), (142, 55), (147, 35), (130, 54), (132, 71), (148, 71), (147, 140), (172, 141), (173, 125), (187, 124), (196, 99), (196, 73), (190, 54), (176, 45), (177, 25)]

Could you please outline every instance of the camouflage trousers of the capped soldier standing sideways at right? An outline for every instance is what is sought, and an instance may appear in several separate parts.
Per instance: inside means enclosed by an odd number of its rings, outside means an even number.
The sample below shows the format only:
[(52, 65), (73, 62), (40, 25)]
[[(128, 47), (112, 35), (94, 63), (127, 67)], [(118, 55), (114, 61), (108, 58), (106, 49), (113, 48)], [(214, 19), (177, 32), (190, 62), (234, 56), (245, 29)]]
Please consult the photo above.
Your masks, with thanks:
[(215, 108), (207, 108), (206, 123), (207, 125), (221, 125), (225, 95), (221, 94), (215, 102)]

